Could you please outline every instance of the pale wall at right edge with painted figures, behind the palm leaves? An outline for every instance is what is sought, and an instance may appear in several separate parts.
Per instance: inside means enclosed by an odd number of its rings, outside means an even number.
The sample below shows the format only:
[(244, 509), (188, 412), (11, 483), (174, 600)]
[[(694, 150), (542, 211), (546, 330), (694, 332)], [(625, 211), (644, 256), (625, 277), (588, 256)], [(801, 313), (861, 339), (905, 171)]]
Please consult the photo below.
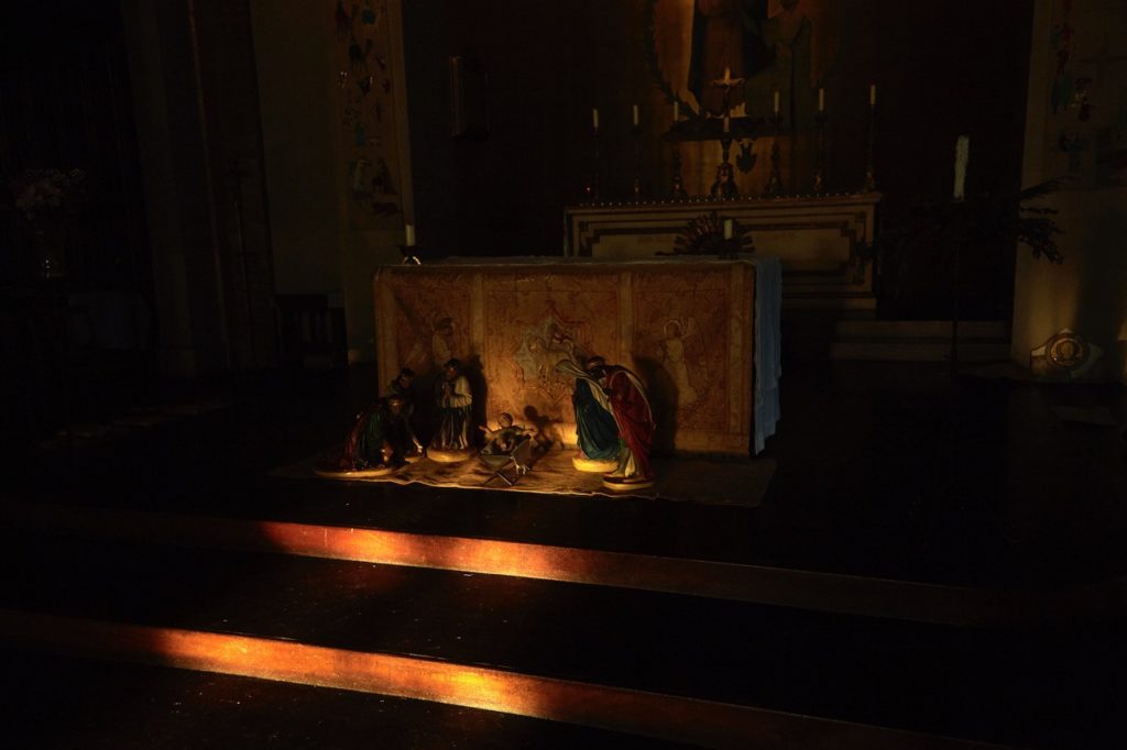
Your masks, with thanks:
[[(1029, 77), (1023, 184), (1068, 176), (1045, 205), (1058, 209), (1064, 264), (1054, 266), (1018, 248), (1014, 361), (1071, 328), (1103, 350), (1095, 377), (1127, 382), (1127, 7), (1038, 0)], [(1071, 27), (1062, 36), (1062, 29)], [(1058, 69), (1062, 51), (1067, 54)], [(1088, 78), (1086, 92), (1076, 81)], [(1056, 86), (1056, 89), (1054, 89)], [(1057, 111), (1054, 113), (1054, 91)], [(1091, 109), (1082, 118), (1083, 100)]]

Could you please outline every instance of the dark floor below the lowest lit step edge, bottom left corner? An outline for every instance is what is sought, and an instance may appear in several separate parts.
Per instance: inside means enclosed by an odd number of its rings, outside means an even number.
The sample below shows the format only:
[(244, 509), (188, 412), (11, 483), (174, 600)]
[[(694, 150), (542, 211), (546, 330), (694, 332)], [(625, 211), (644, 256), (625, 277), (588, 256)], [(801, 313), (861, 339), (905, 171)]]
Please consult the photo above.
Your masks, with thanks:
[(0, 648), (14, 748), (692, 745), (431, 700)]

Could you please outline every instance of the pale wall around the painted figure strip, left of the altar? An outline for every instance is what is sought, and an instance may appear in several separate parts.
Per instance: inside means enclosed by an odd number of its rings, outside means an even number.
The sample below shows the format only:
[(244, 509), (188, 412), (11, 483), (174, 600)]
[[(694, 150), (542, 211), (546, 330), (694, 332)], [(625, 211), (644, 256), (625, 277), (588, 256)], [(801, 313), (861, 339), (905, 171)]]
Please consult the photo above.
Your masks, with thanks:
[[(397, 193), (392, 209), (384, 214), (357, 209), (353, 190), (357, 155), (344, 118), (345, 93), (353, 91), (358, 70), (347, 62), (349, 39), (338, 34), (336, 3), (252, 0), (250, 5), (276, 292), (328, 294), (330, 304), (345, 310), (349, 359), (371, 360), (375, 356), (371, 275), (376, 265), (399, 258), (396, 245), (403, 241), (403, 212), (411, 211), (409, 176), (405, 180), (400, 168), (392, 166)], [(399, 3), (387, 5), (390, 12), (381, 14), (379, 23), (397, 25)], [(396, 101), (402, 97), (399, 38), (396, 29), (392, 48), (375, 50), (390, 65), (384, 78)], [(374, 57), (370, 64), (374, 70)], [(350, 73), (344, 86), (343, 70)], [(406, 163), (406, 139), (396, 139), (394, 130), (406, 131), (401, 110), (384, 106), (381, 117), (391, 134), (385, 137)], [(369, 137), (375, 136), (370, 131)]]

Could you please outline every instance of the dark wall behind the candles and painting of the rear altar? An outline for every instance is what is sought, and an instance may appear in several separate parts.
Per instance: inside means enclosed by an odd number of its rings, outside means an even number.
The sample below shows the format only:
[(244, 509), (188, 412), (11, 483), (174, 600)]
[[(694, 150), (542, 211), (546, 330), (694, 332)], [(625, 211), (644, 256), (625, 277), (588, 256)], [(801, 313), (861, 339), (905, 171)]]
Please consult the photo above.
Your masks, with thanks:
[[(788, 3), (789, 5), (789, 3)], [(763, 3), (777, 18), (780, 2)], [(645, 48), (655, 19), (662, 75), (685, 87), (686, 24), (691, 0), (574, 0), (570, 2), (410, 3), (427, 9), (427, 25), (408, 23), (408, 55), (426, 47), (426, 64), (408, 70), (412, 127), (428, 128), (429, 154), (416, 154), (417, 181), (442, 176), (444, 200), (420, 205), (420, 229), (438, 224), (442, 249), (468, 256), (554, 253), (562, 244), (561, 207), (579, 200), (592, 166), (592, 108), (600, 110), (602, 198), (630, 197), (635, 171), (631, 106), (642, 126), (644, 195), (659, 198), (669, 184), (671, 149), (660, 140), (672, 105), (655, 86)], [(903, 223), (922, 199), (950, 196), (953, 145), (969, 134), (975, 166), (968, 191), (1015, 190), (1020, 181), (1021, 136), (1028, 81), (1028, 24), (1031, 0), (991, 3), (961, 1), (801, 0), (798, 11), (813, 24), (806, 83), (792, 99), (797, 133), (784, 133), (782, 178), (788, 193), (813, 185), (813, 132), (817, 86), (826, 88), (828, 188), (855, 190), (864, 173), (869, 84), (878, 87), (876, 148), (878, 185), (885, 193), (882, 222)], [(429, 29), (429, 33), (427, 32)], [(419, 34), (427, 34), (419, 38)], [(789, 51), (784, 51), (789, 54)], [(449, 72), (443, 57), (465, 55), (489, 74), (489, 125), (483, 139), (450, 139)], [(751, 114), (771, 106), (771, 81), (756, 82)], [(416, 116), (415, 99), (428, 97), (428, 114)], [(691, 95), (682, 91), (685, 97)], [(694, 100), (686, 98), (693, 104)], [(783, 109), (789, 111), (788, 102)], [(423, 111), (421, 109), (419, 110)], [(419, 141), (423, 131), (415, 132)], [(767, 176), (770, 137), (758, 139), (739, 171), (744, 195), (758, 195)], [(719, 145), (682, 146), (686, 187), (706, 193), (719, 161)], [(733, 158), (743, 155), (733, 146)], [(420, 161), (421, 160), (421, 161)], [(746, 162), (745, 162), (746, 163)], [(452, 173), (452, 176), (451, 176)], [(423, 176), (427, 175), (426, 180)], [(440, 180), (440, 182), (442, 181)], [(421, 199), (421, 198), (420, 198)], [(894, 316), (938, 316), (950, 311), (950, 279), (943, 249), (916, 259), (904, 283), (898, 266), (886, 268), (882, 306)], [(965, 316), (1009, 318), (1012, 309), (1012, 253), (1008, 248), (976, 253), (965, 262)], [(897, 295), (897, 288), (900, 294)]]

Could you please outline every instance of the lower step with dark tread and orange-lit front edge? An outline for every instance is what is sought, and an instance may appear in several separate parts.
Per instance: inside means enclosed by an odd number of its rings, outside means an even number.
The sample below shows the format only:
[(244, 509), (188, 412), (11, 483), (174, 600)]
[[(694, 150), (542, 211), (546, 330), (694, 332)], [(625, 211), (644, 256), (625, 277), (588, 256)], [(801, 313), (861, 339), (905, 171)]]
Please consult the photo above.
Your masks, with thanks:
[[(966, 628), (276, 554), (21, 535), (9, 642), (704, 747), (1026, 743), (1104, 707), (1115, 631)], [(1083, 646), (1081, 644), (1084, 644)], [(1084, 680), (1095, 677), (1097, 681)], [(1083, 676), (1083, 679), (1082, 679)], [(1061, 690), (1063, 682), (1068, 688)], [(1086, 687), (1085, 687), (1086, 686)], [(1055, 717), (1048, 721), (1048, 717)]]

